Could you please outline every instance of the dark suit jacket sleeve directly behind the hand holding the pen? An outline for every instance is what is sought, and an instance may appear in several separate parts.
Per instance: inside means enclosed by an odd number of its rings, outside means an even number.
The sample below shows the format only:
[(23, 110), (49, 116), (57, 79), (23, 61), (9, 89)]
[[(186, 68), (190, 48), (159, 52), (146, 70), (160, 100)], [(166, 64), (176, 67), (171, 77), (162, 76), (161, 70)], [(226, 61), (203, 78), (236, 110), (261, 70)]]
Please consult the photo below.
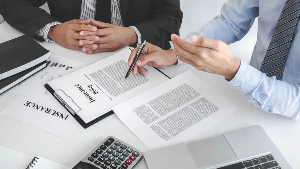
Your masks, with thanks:
[(142, 42), (147, 40), (164, 49), (165, 41), (171, 38), (172, 33), (179, 31), (183, 13), (180, 10), (179, 0), (153, 1), (153, 15), (133, 26), (141, 33)]

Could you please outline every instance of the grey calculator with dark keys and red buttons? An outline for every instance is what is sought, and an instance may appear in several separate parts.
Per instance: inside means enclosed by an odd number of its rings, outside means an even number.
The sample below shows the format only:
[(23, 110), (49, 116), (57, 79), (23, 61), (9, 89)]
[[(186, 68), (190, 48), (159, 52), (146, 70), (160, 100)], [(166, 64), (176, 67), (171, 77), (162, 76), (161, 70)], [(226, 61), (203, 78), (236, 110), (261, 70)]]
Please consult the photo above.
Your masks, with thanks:
[(72, 169), (132, 169), (143, 153), (108, 136)]

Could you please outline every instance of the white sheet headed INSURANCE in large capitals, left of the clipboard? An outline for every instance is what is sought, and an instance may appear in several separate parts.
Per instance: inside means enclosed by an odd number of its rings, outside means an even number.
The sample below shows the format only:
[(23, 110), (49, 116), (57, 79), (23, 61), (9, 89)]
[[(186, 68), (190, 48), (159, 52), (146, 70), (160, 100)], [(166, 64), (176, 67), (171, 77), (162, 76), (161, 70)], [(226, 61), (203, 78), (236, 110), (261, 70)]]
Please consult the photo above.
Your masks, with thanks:
[(38, 98), (19, 96), (0, 114), (62, 138), (84, 131), (84, 128), (58, 102), (50, 105)]

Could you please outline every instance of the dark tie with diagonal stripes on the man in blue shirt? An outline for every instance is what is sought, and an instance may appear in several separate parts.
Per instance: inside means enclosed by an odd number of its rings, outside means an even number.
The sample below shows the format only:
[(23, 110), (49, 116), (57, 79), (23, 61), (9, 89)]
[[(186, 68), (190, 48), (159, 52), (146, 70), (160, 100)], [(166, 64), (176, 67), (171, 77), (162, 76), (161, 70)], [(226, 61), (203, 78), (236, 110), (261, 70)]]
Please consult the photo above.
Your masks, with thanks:
[(260, 67), (260, 71), (268, 77), (276, 76), (277, 80), (282, 79), (299, 13), (300, 0), (287, 0)]

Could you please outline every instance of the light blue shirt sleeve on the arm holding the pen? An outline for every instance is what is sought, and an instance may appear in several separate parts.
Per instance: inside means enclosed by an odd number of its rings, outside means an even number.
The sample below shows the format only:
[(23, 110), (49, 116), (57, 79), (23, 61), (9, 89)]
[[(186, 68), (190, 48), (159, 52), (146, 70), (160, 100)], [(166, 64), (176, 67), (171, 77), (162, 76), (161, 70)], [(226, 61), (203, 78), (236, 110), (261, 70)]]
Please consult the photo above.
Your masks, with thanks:
[[(190, 41), (193, 35), (219, 39), (227, 45), (241, 40), (249, 32), (259, 15), (258, 0), (229, 0), (221, 8), (221, 14), (206, 23), (201, 29), (185, 38)], [(178, 65), (183, 62), (178, 60)]]

